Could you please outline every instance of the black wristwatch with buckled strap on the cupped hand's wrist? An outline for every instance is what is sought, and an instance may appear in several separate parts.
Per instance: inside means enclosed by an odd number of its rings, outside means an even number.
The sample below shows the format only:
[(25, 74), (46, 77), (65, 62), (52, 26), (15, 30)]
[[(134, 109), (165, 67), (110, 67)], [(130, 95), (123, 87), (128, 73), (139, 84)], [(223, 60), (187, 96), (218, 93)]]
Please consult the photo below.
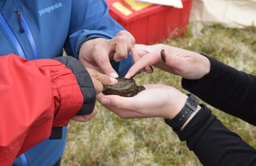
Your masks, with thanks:
[(179, 113), (172, 119), (165, 118), (164, 121), (167, 125), (174, 130), (180, 130), (184, 123), (188, 120), (190, 115), (196, 111), (199, 99), (192, 94), (187, 94), (189, 97), (185, 103), (185, 106), (179, 111)]

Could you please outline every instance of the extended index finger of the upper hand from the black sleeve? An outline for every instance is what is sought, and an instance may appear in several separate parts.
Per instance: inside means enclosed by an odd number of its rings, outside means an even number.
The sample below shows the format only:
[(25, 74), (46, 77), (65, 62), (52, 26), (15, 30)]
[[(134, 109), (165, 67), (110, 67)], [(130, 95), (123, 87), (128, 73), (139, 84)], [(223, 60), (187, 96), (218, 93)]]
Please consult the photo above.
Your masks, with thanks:
[(133, 76), (138, 70), (150, 65), (154, 65), (155, 63), (160, 61), (161, 61), (161, 56), (159, 51), (146, 54), (143, 57), (141, 57), (139, 60), (137, 60), (137, 62), (134, 63), (134, 65), (129, 69), (129, 71), (125, 75), (125, 78), (130, 79), (131, 76)]

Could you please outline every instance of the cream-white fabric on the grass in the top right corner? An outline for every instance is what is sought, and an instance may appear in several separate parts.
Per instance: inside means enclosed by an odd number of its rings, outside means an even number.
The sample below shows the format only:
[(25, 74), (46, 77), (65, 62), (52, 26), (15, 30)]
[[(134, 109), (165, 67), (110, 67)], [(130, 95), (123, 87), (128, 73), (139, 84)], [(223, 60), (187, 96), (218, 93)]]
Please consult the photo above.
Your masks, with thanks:
[(256, 0), (194, 0), (190, 21), (238, 28), (256, 26)]

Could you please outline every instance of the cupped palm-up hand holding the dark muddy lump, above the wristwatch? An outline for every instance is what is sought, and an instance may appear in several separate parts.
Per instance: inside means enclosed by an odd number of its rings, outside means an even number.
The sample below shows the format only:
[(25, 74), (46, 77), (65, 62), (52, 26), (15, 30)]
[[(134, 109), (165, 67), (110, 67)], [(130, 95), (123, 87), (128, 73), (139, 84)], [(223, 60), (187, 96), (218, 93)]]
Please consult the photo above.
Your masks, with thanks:
[(173, 118), (185, 105), (187, 96), (165, 85), (143, 85), (146, 90), (134, 97), (103, 95), (97, 100), (107, 109), (124, 119), (165, 117)]

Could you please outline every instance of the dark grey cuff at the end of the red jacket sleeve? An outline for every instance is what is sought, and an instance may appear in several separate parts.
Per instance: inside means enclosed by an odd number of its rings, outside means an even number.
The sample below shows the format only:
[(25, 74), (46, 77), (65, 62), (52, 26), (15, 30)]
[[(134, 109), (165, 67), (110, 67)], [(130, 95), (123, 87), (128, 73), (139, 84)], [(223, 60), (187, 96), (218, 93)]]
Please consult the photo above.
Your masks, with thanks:
[(96, 93), (90, 74), (84, 65), (74, 57), (56, 57), (53, 58), (66, 65), (76, 76), (81, 92), (84, 97), (84, 103), (77, 115), (85, 115), (92, 113), (95, 102)]

